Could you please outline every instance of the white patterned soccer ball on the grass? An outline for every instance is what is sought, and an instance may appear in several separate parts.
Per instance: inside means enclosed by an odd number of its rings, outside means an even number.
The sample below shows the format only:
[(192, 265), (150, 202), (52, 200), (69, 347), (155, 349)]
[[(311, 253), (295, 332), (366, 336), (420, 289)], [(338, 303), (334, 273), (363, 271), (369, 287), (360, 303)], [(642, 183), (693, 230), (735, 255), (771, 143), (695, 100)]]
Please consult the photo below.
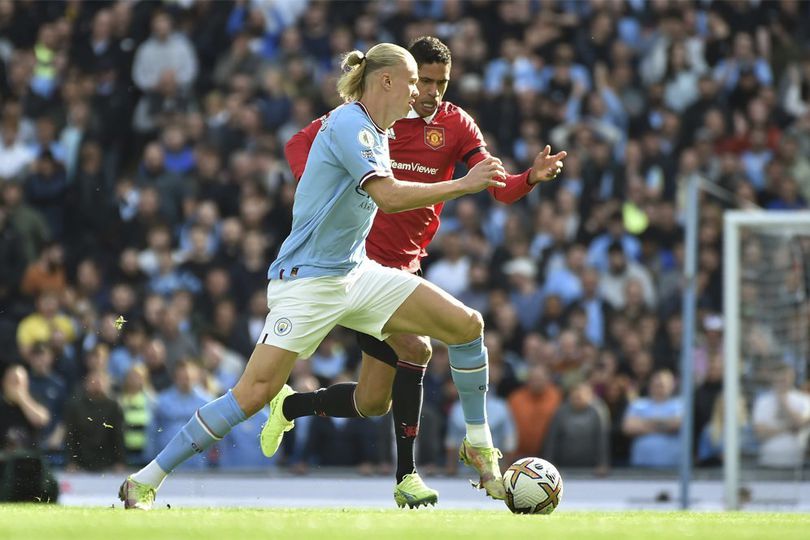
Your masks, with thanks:
[(515, 514), (550, 514), (562, 500), (562, 477), (545, 459), (521, 458), (503, 475), (506, 506)]

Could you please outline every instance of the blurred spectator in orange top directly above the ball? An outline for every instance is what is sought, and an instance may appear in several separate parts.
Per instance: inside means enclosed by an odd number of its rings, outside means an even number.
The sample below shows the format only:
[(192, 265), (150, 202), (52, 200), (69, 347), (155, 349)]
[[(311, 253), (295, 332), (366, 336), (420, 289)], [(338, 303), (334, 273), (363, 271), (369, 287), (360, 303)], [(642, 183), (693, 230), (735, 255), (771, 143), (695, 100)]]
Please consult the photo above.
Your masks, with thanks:
[(548, 368), (542, 364), (530, 367), (526, 384), (512, 392), (508, 399), (517, 427), (516, 455), (540, 456), (561, 401), (562, 392), (551, 381)]

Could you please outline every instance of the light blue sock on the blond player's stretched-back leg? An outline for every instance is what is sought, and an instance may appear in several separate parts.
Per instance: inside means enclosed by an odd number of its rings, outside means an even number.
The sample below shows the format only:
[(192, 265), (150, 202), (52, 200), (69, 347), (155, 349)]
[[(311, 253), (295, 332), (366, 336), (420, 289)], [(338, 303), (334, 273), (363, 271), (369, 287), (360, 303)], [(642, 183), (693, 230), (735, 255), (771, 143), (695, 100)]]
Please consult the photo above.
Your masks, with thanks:
[(155, 462), (170, 473), (194, 454), (205, 452), (215, 442), (222, 440), (231, 428), (245, 419), (245, 413), (228, 390), (224, 396), (200, 407), (180, 433), (161, 450)]

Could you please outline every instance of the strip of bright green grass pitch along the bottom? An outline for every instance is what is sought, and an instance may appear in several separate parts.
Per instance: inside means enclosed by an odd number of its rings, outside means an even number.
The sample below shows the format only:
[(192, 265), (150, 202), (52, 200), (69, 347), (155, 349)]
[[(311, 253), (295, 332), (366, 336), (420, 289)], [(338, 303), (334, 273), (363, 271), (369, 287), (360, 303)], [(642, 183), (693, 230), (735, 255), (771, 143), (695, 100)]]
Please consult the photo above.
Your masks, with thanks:
[(3, 540), (668, 540), (810, 538), (810, 515), (337, 509), (167, 509), (0, 506)]

